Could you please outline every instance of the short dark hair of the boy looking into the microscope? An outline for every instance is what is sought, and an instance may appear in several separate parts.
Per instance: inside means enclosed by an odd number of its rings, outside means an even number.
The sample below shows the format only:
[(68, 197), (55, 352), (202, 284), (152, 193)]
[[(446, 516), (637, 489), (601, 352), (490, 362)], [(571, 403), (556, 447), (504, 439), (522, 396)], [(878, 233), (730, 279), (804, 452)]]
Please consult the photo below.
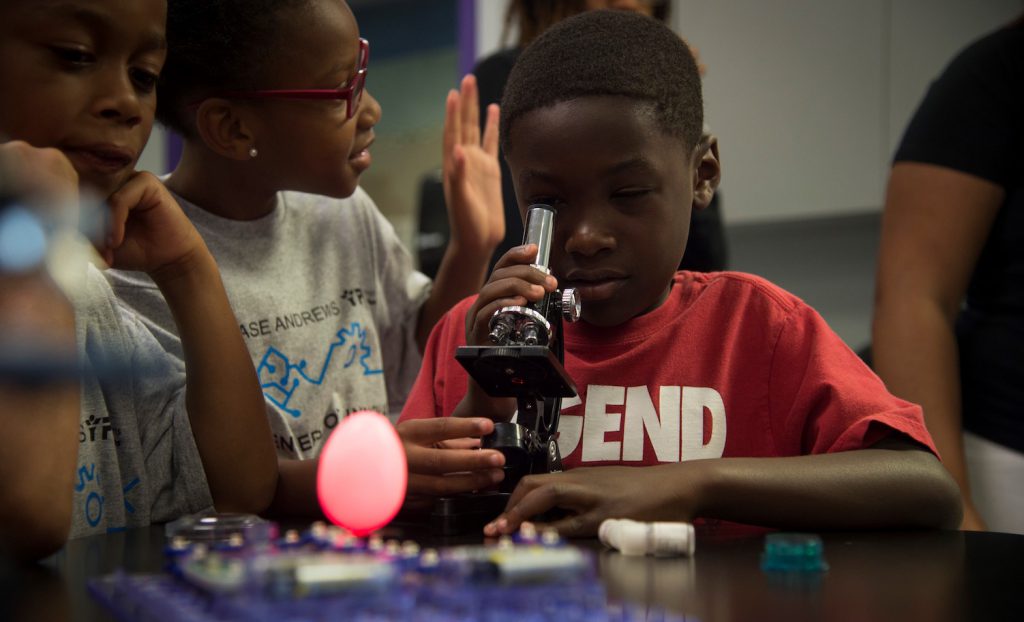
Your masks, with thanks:
[(556, 24), (519, 55), (502, 97), (502, 150), (519, 117), (592, 95), (649, 102), (662, 129), (687, 149), (703, 131), (700, 75), (686, 43), (651, 17), (596, 10)]

